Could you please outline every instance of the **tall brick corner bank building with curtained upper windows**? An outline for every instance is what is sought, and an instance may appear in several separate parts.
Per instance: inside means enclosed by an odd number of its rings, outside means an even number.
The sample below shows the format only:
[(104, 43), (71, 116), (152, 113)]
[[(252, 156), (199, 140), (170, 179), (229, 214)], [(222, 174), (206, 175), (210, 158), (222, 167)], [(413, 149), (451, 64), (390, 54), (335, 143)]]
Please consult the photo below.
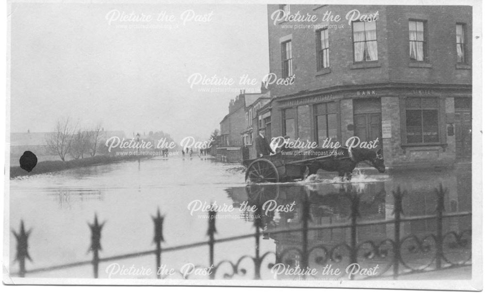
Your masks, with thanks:
[[(275, 20), (278, 10), (318, 21)], [(369, 17), (349, 22), (352, 10)], [(341, 19), (322, 22), (325, 13)], [(388, 166), (469, 160), (471, 15), (468, 6), (268, 5), (270, 71), (291, 81), (269, 85), (272, 136), (378, 139)]]

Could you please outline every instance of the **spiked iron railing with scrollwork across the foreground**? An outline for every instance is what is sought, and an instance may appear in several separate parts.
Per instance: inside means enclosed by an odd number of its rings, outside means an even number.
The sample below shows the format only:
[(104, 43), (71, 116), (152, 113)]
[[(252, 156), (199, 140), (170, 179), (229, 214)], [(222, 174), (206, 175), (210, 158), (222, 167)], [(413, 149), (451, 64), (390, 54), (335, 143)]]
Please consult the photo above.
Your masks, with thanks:
[[(360, 217), (359, 215), (359, 194), (348, 193), (346, 194), (351, 202), (351, 214), (350, 223), (343, 224), (320, 224), (320, 225), (308, 225), (311, 221), (310, 215), (310, 203), (307, 197), (304, 197), (302, 201), (302, 223), (300, 227), (296, 228), (286, 228), (286, 229), (266, 229), (263, 230), (262, 223), (262, 208), (260, 206), (256, 209), (256, 213), (260, 213), (259, 216), (254, 217), (254, 233), (226, 237), (216, 239), (215, 234), (216, 229), (216, 212), (209, 211), (208, 217), (208, 229), (207, 237), (208, 240), (194, 242), (190, 244), (172, 246), (172, 247), (162, 247), (163, 238), (163, 219), (164, 217), (160, 214), (160, 210), (157, 211), (156, 216), (152, 217), (154, 224), (154, 244), (156, 246), (153, 250), (146, 250), (140, 252), (134, 252), (130, 254), (116, 255), (112, 257), (102, 258), (99, 257), (99, 251), (101, 250), (101, 232), (104, 223), (98, 221), (97, 215), (92, 224), (89, 224), (91, 229), (91, 245), (90, 252), (92, 253), (92, 259), (79, 262), (71, 262), (61, 265), (54, 265), (42, 268), (33, 268), (28, 270), (26, 268), (26, 260), (32, 261), (32, 258), (28, 251), (28, 240), (31, 230), (26, 230), (24, 222), (20, 222), (20, 229), (18, 232), (12, 230), (14, 236), (16, 237), (16, 258), (15, 261), (18, 262), (18, 272), (13, 273), (12, 276), (25, 277), (26, 275), (32, 275), (41, 272), (50, 272), (55, 270), (62, 270), (73, 267), (80, 267), (86, 265), (92, 265), (93, 276), (98, 277), (99, 264), (102, 262), (108, 262), (120, 259), (138, 258), (143, 256), (154, 255), (156, 270), (162, 265), (162, 253), (168, 253), (173, 251), (181, 251), (194, 247), (208, 247), (209, 256), (209, 278), (214, 279), (217, 275), (220, 275), (222, 268), (229, 265), (230, 271), (223, 274), (224, 278), (231, 278), (233, 276), (246, 275), (249, 269), (242, 267), (242, 262), (246, 259), (252, 260), (254, 263), (254, 279), (261, 279), (261, 270), (265, 269), (262, 266), (265, 260), (269, 261), (268, 270), (275, 263), (283, 263), (288, 267), (300, 267), (307, 268), (308, 266), (320, 267), (322, 268), (326, 264), (336, 264), (336, 265), (347, 265), (354, 263), (361, 263), (363, 261), (368, 261), (371, 263), (379, 263), (384, 265), (381, 271), (377, 275), (365, 276), (365, 278), (372, 277), (392, 277), (397, 279), (399, 276), (428, 272), (434, 270), (442, 270), (448, 268), (456, 268), (461, 266), (471, 265), (471, 229), (465, 229), (461, 232), (459, 231), (443, 231), (443, 220), (445, 218), (458, 218), (458, 217), (469, 217), (471, 212), (453, 212), (444, 213), (444, 197), (447, 193), (446, 189), (440, 185), (435, 189), (436, 194), (436, 213), (434, 215), (425, 216), (405, 216), (403, 212), (403, 197), (405, 191), (401, 191), (398, 187), (397, 190), (392, 191), (392, 196), (394, 198), (393, 207), (393, 218), (387, 220), (371, 220), (371, 221), (357, 221)], [(404, 223), (410, 223), (413, 221), (423, 221), (423, 220), (435, 220), (436, 221), (436, 231), (435, 233), (427, 235), (408, 235), (402, 237), (401, 225)], [(379, 241), (357, 241), (357, 228), (364, 226), (372, 226), (378, 224), (393, 224), (394, 235), (392, 239), (384, 239)], [(308, 232), (315, 230), (330, 230), (338, 228), (350, 228), (350, 241), (341, 242), (333, 245), (327, 245), (325, 243), (317, 243), (317, 245), (310, 247), (308, 241)], [(301, 233), (301, 246), (293, 246), (286, 248), (279, 252), (268, 251), (262, 253), (260, 251), (260, 238), (261, 235), (273, 235), (274, 237), (278, 234), (284, 233)], [(239, 241), (243, 239), (254, 238), (255, 241), (255, 251), (254, 256), (245, 255), (237, 259), (237, 261), (222, 260), (218, 263), (214, 262), (214, 244), (224, 243), (229, 241)], [(446, 242), (446, 245), (445, 245)], [(424, 261), (420, 258), (420, 254), (431, 255), (429, 259)], [(275, 262), (269, 259), (275, 259)], [(344, 259), (348, 258), (345, 262)], [(309, 262), (313, 264), (310, 265)], [(423, 263), (425, 262), (425, 263)], [(197, 266), (204, 267), (207, 266)], [(392, 270), (391, 270), (392, 268)], [(184, 278), (186, 276), (183, 276)], [(305, 279), (308, 276), (301, 276)], [(355, 279), (356, 276), (349, 276), (351, 279)], [(357, 276), (359, 277), (359, 276)], [(157, 274), (157, 278), (162, 278), (161, 275)]]

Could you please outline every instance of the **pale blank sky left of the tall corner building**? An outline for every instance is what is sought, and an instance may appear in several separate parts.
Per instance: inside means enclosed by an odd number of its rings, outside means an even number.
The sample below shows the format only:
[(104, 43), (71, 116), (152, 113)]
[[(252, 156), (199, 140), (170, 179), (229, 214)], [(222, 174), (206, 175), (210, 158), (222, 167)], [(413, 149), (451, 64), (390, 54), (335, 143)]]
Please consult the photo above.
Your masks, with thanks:
[[(266, 5), (12, 3), (9, 17), (11, 132), (69, 118), (208, 138), (269, 73)], [(243, 74), (257, 85), (240, 85)], [(214, 75), (234, 84), (188, 81)]]

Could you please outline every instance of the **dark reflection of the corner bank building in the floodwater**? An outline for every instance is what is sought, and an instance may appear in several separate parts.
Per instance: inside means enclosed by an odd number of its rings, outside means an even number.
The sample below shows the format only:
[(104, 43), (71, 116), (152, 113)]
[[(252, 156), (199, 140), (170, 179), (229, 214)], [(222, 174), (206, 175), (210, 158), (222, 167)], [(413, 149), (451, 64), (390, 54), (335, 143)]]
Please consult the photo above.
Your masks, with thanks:
[[(349, 197), (352, 193), (358, 194), (357, 223), (394, 219), (392, 191), (397, 190), (398, 186), (401, 190), (405, 190), (404, 216), (434, 215), (436, 213), (435, 188), (440, 183), (448, 190), (445, 195), (445, 213), (471, 211), (471, 172), (469, 169), (393, 173), (391, 177), (392, 180), (388, 181), (353, 184), (248, 185), (245, 188), (228, 189), (227, 193), (234, 202), (238, 203), (248, 201), (251, 204), (261, 205), (268, 200), (275, 200), (278, 205), (286, 205), (295, 202), (293, 211), (263, 214), (263, 233), (275, 241), (276, 255), (284, 255), (286, 258), (292, 259), (292, 266), (300, 263), (300, 257), (297, 253), (291, 255), (288, 252), (302, 249), (302, 232), (272, 233), (272, 231), (301, 228), (305, 216), (303, 213), (306, 200), (309, 203), (308, 218), (310, 221), (308, 226), (310, 228), (318, 225), (351, 224), (350, 217), (353, 207), (355, 207)], [(243, 191), (246, 193), (245, 196)], [(442, 224), (443, 233), (447, 231), (461, 233), (471, 229), (471, 217), (445, 218)], [(430, 234), (436, 234), (436, 219), (401, 224), (401, 239), (409, 235), (424, 238)], [(307, 236), (307, 247), (310, 250), (319, 245), (328, 249), (341, 243), (350, 245), (351, 237), (351, 227), (310, 229)], [(394, 239), (394, 224), (370, 224), (356, 227), (356, 245), (366, 241), (379, 244), (386, 239)], [(450, 249), (450, 247), (445, 246), (445, 249)], [(468, 248), (460, 249), (465, 251)], [(341, 255), (348, 258), (349, 254), (348, 251), (347, 254), (344, 251)], [(426, 255), (426, 257), (430, 257), (430, 255)], [(412, 259), (415, 256), (409, 258)], [(314, 259), (310, 258), (310, 260)], [(346, 261), (348, 259), (342, 260), (342, 262)], [(317, 264), (317, 267), (321, 267), (319, 265), (321, 264)]]

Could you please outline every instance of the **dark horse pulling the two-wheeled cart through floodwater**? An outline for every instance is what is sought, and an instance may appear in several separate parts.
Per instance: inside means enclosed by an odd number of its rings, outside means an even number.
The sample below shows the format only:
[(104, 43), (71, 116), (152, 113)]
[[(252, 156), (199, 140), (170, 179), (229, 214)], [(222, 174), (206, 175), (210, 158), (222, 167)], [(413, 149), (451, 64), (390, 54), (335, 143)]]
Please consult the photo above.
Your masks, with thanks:
[[(345, 156), (332, 155), (329, 158), (315, 160), (307, 165), (305, 178), (308, 175), (316, 174), (319, 169), (338, 172), (343, 179), (352, 179), (352, 172), (359, 162), (368, 162), (377, 169), (380, 173), (386, 172), (384, 165), (384, 157), (382, 156), (382, 149), (374, 151), (371, 149), (340, 147), (337, 149), (314, 149), (315, 152), (334, 152), (333, 154), (345, 154)], [(308, 156), (308, 158), (315, 157), (315, 155)]]

